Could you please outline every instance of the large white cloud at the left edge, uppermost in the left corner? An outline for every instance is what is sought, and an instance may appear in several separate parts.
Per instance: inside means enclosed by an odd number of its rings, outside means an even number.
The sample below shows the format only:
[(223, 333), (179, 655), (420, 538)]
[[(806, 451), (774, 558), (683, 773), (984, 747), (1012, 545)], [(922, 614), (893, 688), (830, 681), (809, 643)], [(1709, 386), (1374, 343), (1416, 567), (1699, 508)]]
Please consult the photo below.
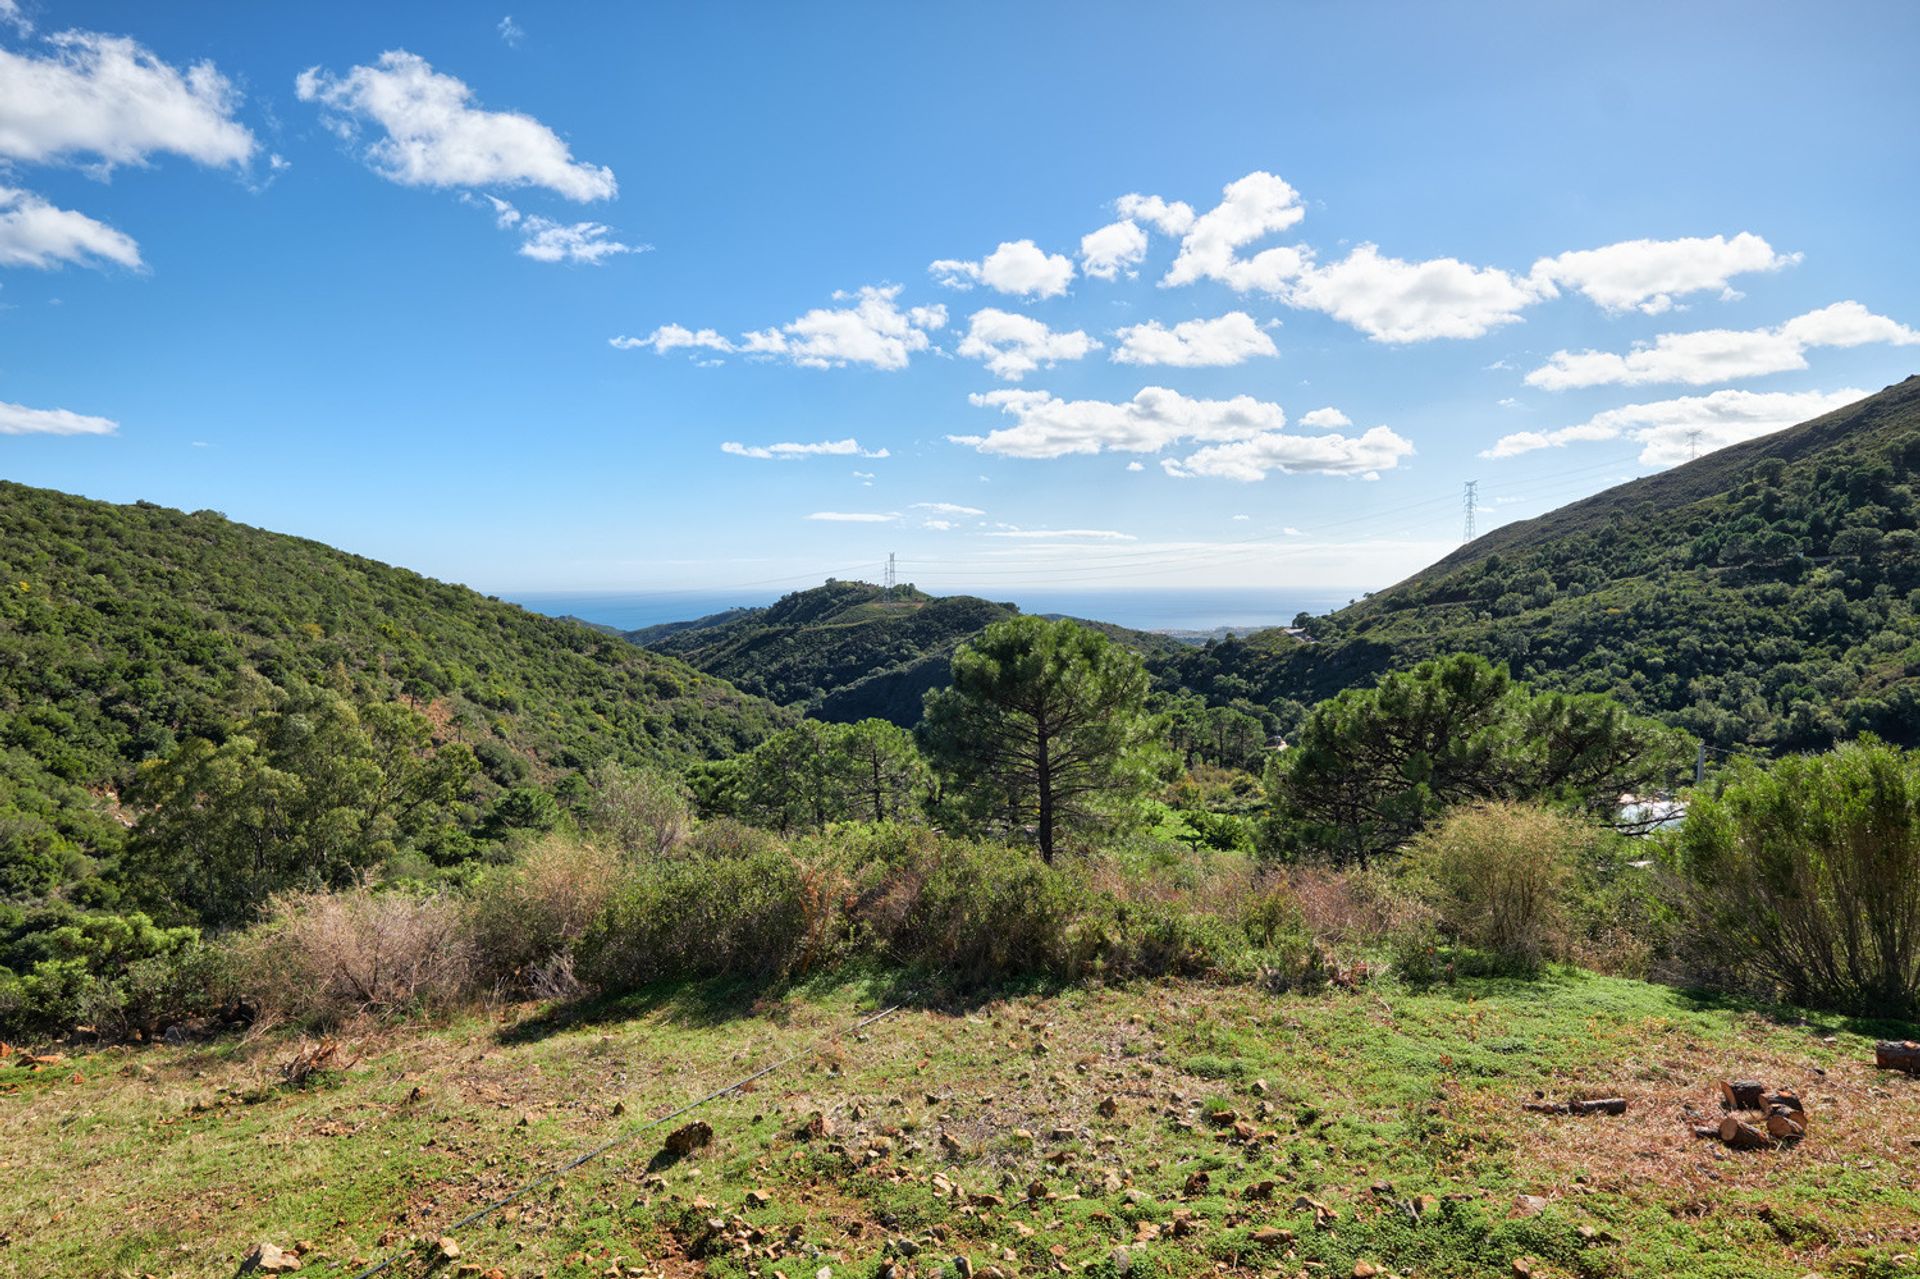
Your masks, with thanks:
[(48, 56), (0, 48), (0, 156), (75, 159), (109, 171), (156, 152), (244, 165), (253, 134), (240, 94), (211, 61), (173, 67), (127, 36), (65, 31)]

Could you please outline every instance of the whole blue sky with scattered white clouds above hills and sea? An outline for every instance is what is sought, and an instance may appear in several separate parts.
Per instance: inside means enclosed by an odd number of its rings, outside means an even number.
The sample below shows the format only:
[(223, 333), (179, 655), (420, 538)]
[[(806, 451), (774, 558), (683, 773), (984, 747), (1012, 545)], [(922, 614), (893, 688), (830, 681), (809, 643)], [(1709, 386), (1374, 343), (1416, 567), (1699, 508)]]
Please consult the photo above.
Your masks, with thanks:
[(1920, 371), (1916, 46), (0, 0), (0, 474), (503, 593), (1384, 586), (1469, 478), (1486, 528)]

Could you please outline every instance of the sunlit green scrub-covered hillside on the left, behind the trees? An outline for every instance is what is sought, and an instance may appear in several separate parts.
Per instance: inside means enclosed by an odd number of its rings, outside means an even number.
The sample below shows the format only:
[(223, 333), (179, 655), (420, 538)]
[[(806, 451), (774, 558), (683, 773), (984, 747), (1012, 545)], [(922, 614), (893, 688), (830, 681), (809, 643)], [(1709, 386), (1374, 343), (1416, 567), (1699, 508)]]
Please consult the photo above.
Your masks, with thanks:
[(0, 870), (111, 851), (142, 760), (307, 689), (419, 711), (495, 791), (726, 755), (785, 718), (614, 636), (317, 542), (0, 484)]

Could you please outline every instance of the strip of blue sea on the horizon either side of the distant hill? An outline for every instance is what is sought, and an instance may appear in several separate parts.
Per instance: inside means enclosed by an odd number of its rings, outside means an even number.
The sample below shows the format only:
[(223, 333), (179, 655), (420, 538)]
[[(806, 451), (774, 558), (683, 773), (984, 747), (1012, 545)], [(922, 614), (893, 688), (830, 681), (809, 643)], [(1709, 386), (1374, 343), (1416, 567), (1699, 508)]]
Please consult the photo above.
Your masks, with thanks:
[[(1020, 605), (1021, 613), (1062, 613), (1094, 622), (1114, 622), (1133, 630), (1160, 632), (1252, 632), (1265, 626), (1292, 626), (1300, 613), (1327, 613), (1354, 599), (1359, 588), (1137, 588), (1137, 590), (968, 590), (941, 588), (937, 595), (983, 595)], [(545, 613), (576, 616), (616, 630), (639, 630), (660, 622), (689, 622), (726, 609), (770, 605), (780, 591), (507, 591), (501, 599)]]

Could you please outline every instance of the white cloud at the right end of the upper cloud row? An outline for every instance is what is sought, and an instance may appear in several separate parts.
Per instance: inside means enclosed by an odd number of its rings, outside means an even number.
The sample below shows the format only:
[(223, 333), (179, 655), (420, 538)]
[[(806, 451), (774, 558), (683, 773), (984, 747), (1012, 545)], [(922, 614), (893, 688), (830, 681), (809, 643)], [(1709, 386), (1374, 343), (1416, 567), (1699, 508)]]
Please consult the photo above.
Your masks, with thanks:
[(1622, 240), (1596, 250), (1574, 250), (1534, 263), (1532, 278), (1548, 288), (1563, 284), (1609, 311), (1670, 311), (1676, 296), (1726, 290), (1728, 280), (1749, 271), (1780, 271), (1801, 259), (1776, 253), (1753, 232), (1688, 236), (1680, 240)]

